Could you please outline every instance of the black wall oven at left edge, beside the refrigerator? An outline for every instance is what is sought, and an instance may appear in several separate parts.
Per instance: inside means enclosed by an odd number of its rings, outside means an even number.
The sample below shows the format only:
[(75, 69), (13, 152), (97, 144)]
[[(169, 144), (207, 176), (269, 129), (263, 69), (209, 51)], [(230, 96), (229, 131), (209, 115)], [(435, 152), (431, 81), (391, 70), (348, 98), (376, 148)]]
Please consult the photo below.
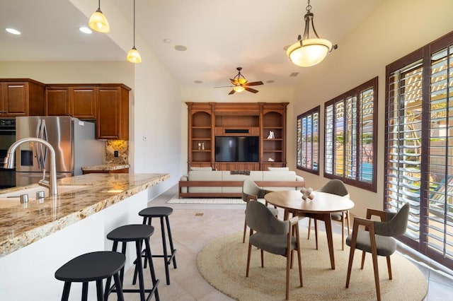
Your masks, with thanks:
[(16, 141), (16, 119), (0, 119), (0, 189), (16, 187), (16, 170), (3, 167), (6, 152)]

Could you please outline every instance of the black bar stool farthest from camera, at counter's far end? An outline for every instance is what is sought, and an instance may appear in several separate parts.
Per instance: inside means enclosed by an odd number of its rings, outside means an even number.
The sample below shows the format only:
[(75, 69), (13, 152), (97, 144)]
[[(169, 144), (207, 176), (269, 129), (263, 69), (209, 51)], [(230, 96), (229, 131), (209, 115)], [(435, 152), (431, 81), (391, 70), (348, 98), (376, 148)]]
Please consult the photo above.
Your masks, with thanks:
[[(139, 216), (143, 216), (144, 225), (146, 225), (147, 223), (148, 223), (148, 225), (151, 225), (152, 218), (161, 219), (162, 246), (164, 249), (164, 254), (163, 255), (153, 255), (153, 257), (164, 258), (167, 284), (170, 284), (170, 273), (168, 271), (168, 266), (170, 265), (171, 261), (173, 261), (173, 268), (176, 268), (176, 257), (175, 257), (176, 249), (173, 247), (173, 238), (171, 237), (170, 222), (168, 221), (168, 216), (171, 215), (171, 213), (173, 213), (173, 208), (159, 207), (159, 206), (144, 208), (142, 211), (139, 212)], [(168, 252), (167, 252), (164, 218), (165, 218), (166, 228), (167, 228), (167, 232), (168, 232), (168, 242), (170, 243), (170, 250), (171, 250), (170, 254), (168, 254)], [(146, 261), (145, 261), (145, 264), (146, 264)], [(134, 276), (134, 278), (135, 278), (135, 276)]]

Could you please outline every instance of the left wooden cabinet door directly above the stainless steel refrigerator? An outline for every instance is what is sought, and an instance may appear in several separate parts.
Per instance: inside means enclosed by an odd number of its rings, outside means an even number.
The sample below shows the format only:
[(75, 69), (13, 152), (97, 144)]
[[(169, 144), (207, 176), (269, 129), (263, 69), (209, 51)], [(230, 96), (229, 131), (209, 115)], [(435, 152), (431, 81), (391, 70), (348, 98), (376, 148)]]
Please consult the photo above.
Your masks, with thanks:
[(69, 88), (45, 88), (46, 116), (69, 116)]

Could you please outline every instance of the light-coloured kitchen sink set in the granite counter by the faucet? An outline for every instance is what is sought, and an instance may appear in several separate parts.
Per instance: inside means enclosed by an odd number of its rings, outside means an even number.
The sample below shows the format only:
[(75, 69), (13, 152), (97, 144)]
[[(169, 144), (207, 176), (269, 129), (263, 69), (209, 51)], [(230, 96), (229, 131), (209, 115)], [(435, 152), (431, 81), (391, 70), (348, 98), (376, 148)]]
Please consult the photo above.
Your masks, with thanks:
[[(65, 194), (67, 192), (72, 192), (72, 191), (84, 189), (87, 187), (89, 187), (89, 185), (59, 185), (58, 194)], [(46, 187), (41, 187), (41, 186), (11, 191), (6, 194), (0, 194), (0, 208), (8, 208), (8, 207), (20, 205), (21, 204), (21, 194), (28, 194), (28, 201), (35, 201), (36, 193), (38, 191), (44, 191), (45, 197), (49, 196), (49, 189), (47, 189)]]

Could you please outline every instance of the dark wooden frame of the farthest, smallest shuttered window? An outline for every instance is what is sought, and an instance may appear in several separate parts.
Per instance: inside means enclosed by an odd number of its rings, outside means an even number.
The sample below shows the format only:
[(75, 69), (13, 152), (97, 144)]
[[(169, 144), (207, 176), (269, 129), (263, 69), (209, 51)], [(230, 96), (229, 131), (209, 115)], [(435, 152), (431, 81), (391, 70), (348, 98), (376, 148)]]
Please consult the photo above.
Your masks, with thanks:
[[(302, 128), (303, 128), (302, 119), (311, 117), (311, 122), (312, 122), (311, 123), (311, 135), (312, 135), (312, 137), (314, 137), (313, 136), (313, 134), (314, 134), (314, 131), (313, 131), (313, 129), (314, 129), (314, 126), (313, 126), (313, 124), (314, 124), (314, 117), (313, 117), (314, 114), (318, 114), (317, 126), (316, 126), (316, 128), (318, 129), (318, 135), (317, 135), (317, 140), (318, 140), (318, 148), (317, 149), (318, 149), (318, 151), (316, 152), (316, 155), (317, 155), (318, 159), (317, 159), (317, 168), (316, 168), (316, 170), (314, 168), (306, 167), (306, 166), (303, 166), (302, 164), (299, 164), (299, 163), (302, 163), (302, 159), (303, 159), (302, 153), (303, 153), (303, 149), (304, 149), (302, 147), (302, 141), (304, 141), (304, 139), (303, 139), (304, 134), (302, 133)], [(319, 148), (319, 142), (320, 142), (319, 141), (319, 138), (320, 138), (320, 135), (319, 135), (320, 134), (320, 127), (319, 126), (320, 126), (320, 122), (319, 122), (319, 119), (320, 119), (320, 117), (321, 117), (321, 105), (319, 105), (317, 107), (314, 107), (313, 109), (308, 110), (308, 111), (306, 111), (306, 112), (304, 112), (302, 114), (299, 114), (297, 116), (297, 119), (296, 119), (296, 135), (297, 135), (297, 138), (296, 138), (296, 168), (298, 170), (303, 170), (304, 172), (310, 172), (310, 173), (312, 173), (314, 175), (319, 175), (319, 158), (320, 158), (319, 157), (319, 155), (320, 155), (320, 151), (319, 151), (319, 149), (320, 149)], [(299, 124), (299, 120), (300, 120), (300, 124)], [(299, 133), (301, 135), (300, 141), (299, 141)], [(314, 150), (314, 139), (311, 140), (311, 162), (314, 162), (314, 151), (313, 150)], [(300, 156), (300, 158), (299, 158), (299, 156)], [(314, 165), (311, 165), (311, 166), (313, 167)]]

